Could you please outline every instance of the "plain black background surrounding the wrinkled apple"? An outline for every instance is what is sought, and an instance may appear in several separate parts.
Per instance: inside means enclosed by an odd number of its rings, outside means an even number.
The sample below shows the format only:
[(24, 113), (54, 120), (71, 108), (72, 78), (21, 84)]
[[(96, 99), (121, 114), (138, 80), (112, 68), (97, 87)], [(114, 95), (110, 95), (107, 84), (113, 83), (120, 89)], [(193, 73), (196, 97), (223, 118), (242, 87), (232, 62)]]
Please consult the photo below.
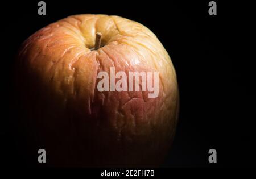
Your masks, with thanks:
[[(240, 56), (238, 47), (247, 37), (247, 18), (240, 9), (250, 5), (216, 1), (217, 15), (209, 15), (209, 1), (45, 1), (47, 15), (38, 15), (38, 2), (1, 2), (2, 164), (26, 166), (10, 101), (15, 93), (11, 70), (20, 44), (49, 23), (92, 13), (144, 24), (171, 56), (180, 88), (180, 119), (163, 166), (255, 166), (254, 59)], [(216, 164), (208, 162), (211, 148), (217, 150)]]

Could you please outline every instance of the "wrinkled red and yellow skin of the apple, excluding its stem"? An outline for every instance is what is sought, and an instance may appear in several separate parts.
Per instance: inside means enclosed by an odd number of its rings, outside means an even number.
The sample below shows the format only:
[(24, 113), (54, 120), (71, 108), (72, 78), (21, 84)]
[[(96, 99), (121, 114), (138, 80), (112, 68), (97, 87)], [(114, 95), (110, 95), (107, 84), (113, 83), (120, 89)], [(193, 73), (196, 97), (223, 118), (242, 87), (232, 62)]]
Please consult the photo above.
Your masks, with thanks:
[[(102, 45), (94, 47), (96, 32)], [(159, 95), (97, 90), (98, 72), (159, 72)], [(49, 24), (16, 60), (20, 126), (49, 166), (159, 166), (175, 135), (179, 90), (170, 56), (142, 24), (81, 14)]]

